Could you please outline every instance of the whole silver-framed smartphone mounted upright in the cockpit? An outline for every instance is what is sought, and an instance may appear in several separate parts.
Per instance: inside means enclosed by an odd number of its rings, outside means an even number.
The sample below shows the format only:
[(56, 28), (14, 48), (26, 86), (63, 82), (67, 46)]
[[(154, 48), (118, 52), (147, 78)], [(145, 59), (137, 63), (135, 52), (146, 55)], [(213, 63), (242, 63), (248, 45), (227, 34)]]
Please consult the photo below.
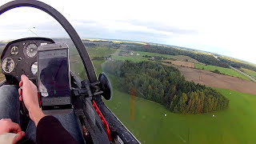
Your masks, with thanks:
[(72, 109), (69, 48), (66, 44), (38, 47), (38, 98), (44, 112)]

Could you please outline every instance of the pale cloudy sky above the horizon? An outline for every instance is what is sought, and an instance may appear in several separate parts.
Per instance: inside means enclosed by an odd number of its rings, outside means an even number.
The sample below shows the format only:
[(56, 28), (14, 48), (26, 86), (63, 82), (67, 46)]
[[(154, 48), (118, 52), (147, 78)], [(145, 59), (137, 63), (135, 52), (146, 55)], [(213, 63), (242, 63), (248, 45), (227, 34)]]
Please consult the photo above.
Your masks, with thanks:
[[(10, 0), (0, 0), (0, 5)], [(256, 63), (256, 2), (235, 0), (42, 0), (81, 38), (155, 42)], [(21, 7), (0, 16), (0, 40), (69, 38), (48, 14)]]

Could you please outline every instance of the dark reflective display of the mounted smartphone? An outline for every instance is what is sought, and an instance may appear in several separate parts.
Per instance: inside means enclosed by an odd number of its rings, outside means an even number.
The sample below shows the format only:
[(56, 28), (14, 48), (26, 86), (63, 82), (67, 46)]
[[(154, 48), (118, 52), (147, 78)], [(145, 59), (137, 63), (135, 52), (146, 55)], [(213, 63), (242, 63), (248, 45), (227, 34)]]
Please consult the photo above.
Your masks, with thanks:
[(70, 97), (69, 74), (67, 49), (38, 51), (38, 91), (42, 104), (46, 98)]

